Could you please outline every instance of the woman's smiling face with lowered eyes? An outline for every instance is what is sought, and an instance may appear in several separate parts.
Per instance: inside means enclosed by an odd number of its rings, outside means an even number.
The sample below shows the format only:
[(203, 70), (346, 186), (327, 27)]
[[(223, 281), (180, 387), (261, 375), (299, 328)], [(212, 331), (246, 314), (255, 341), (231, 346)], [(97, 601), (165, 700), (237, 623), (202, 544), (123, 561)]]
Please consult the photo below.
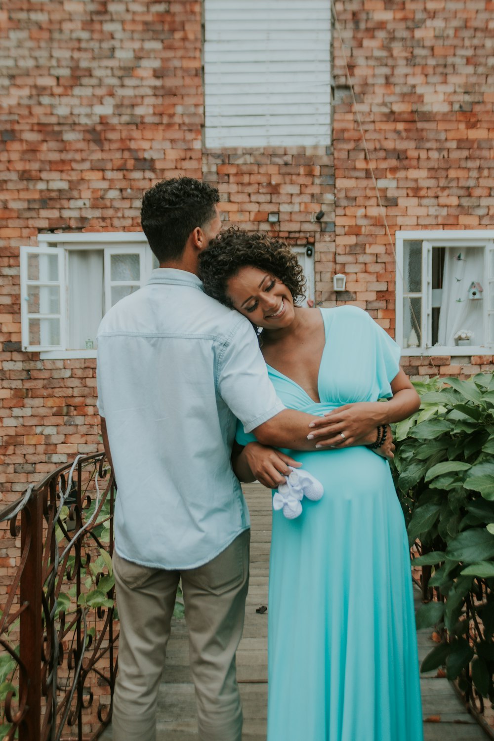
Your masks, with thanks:
[(290, 290), (266, 270), (240, 268), (227, 281), (227, 294), (237, 311), (266, 330), (288, 327), (295, 319)]

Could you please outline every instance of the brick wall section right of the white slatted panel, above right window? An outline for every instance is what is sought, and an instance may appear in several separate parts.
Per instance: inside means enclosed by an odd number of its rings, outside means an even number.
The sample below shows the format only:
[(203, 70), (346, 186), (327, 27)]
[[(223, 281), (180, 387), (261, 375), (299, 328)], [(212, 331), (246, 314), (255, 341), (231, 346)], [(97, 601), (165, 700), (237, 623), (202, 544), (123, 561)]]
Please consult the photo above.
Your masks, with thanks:
[[(485, 229), (494, 221), (492, 0), (336, 0), (335, 271), (347, 299), (394, 334), (395, 230)], [(350, 78), (370, 153), (344, 90)], [(399, 279), (399, 277), (398, 277)], [(332, 300), (330, 290), (322, 299)], [(412, 374), (470, 375), (493, 358), (404, 359)]]

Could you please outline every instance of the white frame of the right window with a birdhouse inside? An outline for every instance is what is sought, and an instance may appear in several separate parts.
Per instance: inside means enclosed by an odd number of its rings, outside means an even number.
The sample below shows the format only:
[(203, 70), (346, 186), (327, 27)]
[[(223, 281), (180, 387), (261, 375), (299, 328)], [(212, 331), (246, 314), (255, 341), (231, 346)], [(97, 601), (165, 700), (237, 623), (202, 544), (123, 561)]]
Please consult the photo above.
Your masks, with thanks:
[[(420, 298), (422, 303), (421, 336), (427, 338), (425, 345), (420, 348), (401, 348), (405, 356), (471, 356), (493, 355), (494, 343), (484, 345), (467, 345), (460, 347), (453, 345), (431, 345), (431, 316), (432, 316), (432, 252), (433, 247), (469, 247), (484, 248), (484, 328), (485, 335), (489, 336), (489, 323), (494, 321), (494, 308), (490, 309), (494, 291), (494, 275), (490, 275), (490, 253), (494, 252), (494, 230), (403, 230), (395, 233), (396, 240), (396, 303), (395, 319), (396, 341), (401, 343), (403, 337), (403, 304), (404, 299)], [(404, 242), (417, 240), (422, 245), (422, 290), (421, 293), (407, 293), (404, 291)], [(487, 289), (487, 290), (486, 290)], [(494, 304), (493, 304), (494, 307)], [(491, 319), (492, 316), (492, 319)]]

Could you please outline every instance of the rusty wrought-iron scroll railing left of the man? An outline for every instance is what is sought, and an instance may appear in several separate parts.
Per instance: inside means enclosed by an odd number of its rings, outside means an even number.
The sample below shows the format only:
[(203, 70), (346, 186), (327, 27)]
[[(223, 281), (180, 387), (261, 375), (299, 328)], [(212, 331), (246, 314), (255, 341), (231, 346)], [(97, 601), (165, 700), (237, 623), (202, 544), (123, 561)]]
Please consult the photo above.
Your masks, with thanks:
[(1, 538), (16, 553), (0, 614), (0, 739), (96, 739), (110, 721), (115, 492), (96, 453), (0, 511)]

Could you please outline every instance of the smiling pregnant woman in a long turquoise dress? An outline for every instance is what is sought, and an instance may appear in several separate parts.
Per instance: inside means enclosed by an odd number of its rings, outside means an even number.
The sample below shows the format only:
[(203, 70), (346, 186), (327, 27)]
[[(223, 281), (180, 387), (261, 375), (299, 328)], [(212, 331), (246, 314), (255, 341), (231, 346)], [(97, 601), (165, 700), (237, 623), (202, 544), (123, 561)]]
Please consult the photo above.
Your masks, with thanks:
[[(334, 425), (331, 447), (283, 451), (319, 479), (324, 496), (304, 498), (296, 519), (273, 512), (268, 741), (421, 741), (404, 517), (387, 460), (358, 444), (418, 408), (398, 345), (356, 307), (298, 307), (296, 256), (264, 234), (221, 233), (202, 253), (201, 277), (207, 293), (262, 329), (284, 405), (329, 413)], [(244, 480), (252, 441), (238, 430), (234, 467)], [(276, 461), (273, 483), (286, 472)]]

